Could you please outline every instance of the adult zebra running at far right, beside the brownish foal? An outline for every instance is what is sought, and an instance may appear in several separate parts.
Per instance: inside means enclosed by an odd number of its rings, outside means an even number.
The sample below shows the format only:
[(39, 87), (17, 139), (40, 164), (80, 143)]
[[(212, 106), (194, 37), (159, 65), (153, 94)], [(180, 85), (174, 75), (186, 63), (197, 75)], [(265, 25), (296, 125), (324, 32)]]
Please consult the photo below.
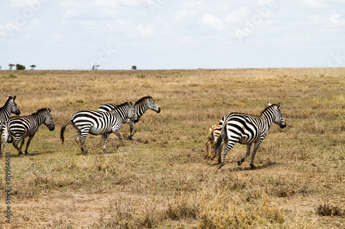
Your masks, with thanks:
[[(215, 143), (213, 153), (216, 154), (222, 149), (224, 142), (228, 141), (223, 149), (222, 155), (218, 155), (219, 168), (224, 166), (224, 160), (226, 154), (233, 146), (239, 142), (240, 144), (247, 145), (246, 155), (237, 164), (240, 166), (244, 160), (250, 155), (250, 147), (254, 143), (254, 149), (252, 159), (250, 160), (250, 168), (255, 168), (254, 157), (260, 144), (267, 135), (268, 129), (274, 122), (278, 124), (282, 129), (286, 127), (286, 122), (283, 119), (282, 111), (280, 107), (282, 103), (278, 105), (270, 105), (264, 111), (261, 116), (252, 116), (245, 113), (228, 113), (224, 116), (219, 123), (221, 127), (221, 133), (217, 142)], [(223, 122), (223, 123), (222, 123)]]

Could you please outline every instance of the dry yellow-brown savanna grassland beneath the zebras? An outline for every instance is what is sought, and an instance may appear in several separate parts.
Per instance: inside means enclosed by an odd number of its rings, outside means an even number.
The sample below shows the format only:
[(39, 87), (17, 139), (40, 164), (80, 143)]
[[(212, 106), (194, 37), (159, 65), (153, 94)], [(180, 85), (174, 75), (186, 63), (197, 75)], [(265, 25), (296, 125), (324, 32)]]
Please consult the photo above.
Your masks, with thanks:
[[(49, 107), (28, 156), (12, 144), (11, 223), (0, 228), (345, 228), (345, 69), (0, 71), (0, 105), (17, 96), (21, 115)], [(88, 135), (81, 155), (69, 124), (76, 111), (152, 96), (138, 132)], [(204, 160), (208, 129), (227, 113), (258, 114), (282, 102), (255, 157), (237, 166)], [(126, 137), (129, 127), (121, 129)], [(0, 161), (5, 190), (5, 161)], [(3, 195), (4, 196), (4, 195)]]

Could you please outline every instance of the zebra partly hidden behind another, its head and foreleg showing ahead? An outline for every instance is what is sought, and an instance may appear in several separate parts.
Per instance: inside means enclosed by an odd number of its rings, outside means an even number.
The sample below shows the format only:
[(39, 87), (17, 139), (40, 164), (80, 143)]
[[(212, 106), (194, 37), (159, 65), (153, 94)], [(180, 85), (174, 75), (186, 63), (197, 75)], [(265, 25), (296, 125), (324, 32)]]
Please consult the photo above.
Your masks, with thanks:
[[(101, 105), (101, 107), (98, 108), (97, 111), (103, 111), (107, 112), (111, 109), (117, 107), (118, 105), (107, 103)], [(139, 122), (140, 117), (147, 111), (148, 109), (151, 109), (152, 111), (156, 111), (157, 113), (161, 112), (161, 109), (158, 107), (158, 105), (155, 103), (155, 101), (152, 99), (151, 96), (145, 96), (137, 102), (135, 102), (135, 105), (133, 105), (133, 108), (135, 110), (135, 113), (137, 113), (137, 120), (134, 122), (130, 119), (125, 119), (124, 123), (128, 123), (130, 125), (130, 135), (128, 135), (128, 138), (132, 138), (132, 136), (137, 132), (137, 128), (135, 127), (135, 122)]]

